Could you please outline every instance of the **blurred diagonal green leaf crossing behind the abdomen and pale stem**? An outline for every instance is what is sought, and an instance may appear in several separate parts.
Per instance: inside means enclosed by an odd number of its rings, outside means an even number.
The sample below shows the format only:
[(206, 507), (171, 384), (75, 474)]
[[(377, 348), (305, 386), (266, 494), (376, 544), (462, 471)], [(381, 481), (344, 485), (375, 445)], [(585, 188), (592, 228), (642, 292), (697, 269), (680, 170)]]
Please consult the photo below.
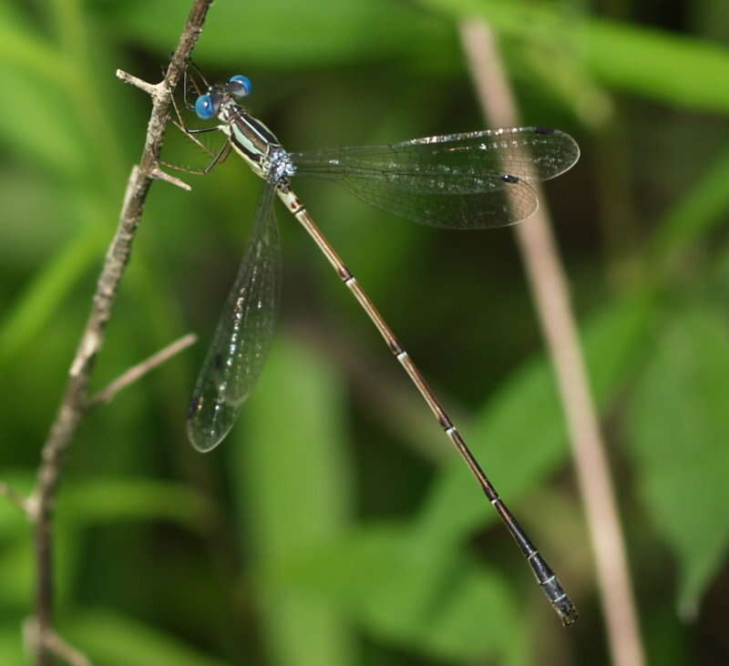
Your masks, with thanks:
[[(585, 356), (601, 402), (608, 402), (621, 379), (630, 376), (645, 345), (649, 313), (650, 302), (616, 300), (584, 326)], [(504, 497), (529, 493), (567, 454), (557, 390), (543, 358), (512, 373), (476, 414), (475, 453), (493, 456), (489, 469)], [(522, 442), (529, 446), (519, 446)], [(477, 493), (461, 466), (451, 464), (440, 476), (420, 520), (421, 530), (435, 532), (434, 547), (462, 540), (483, 521), (496, 519), (477, 502)]]

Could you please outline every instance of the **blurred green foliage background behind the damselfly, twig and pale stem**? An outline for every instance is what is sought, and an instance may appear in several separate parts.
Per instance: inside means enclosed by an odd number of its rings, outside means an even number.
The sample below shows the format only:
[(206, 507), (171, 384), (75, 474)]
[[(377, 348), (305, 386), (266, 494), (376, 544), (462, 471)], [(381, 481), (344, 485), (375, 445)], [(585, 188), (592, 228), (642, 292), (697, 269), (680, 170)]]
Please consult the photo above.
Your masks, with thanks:
[[(183, 0), (0, 5), (0, 480), (30, 490)], [(482, 128), (457, 22), (498, 34), (525, 124), (569, 131), (546, 199), (601, 406), (649, 659), (729, 662), (725, 0), (218, 0), (195, 51), (289, 149)], [(180, 159), (172, 137), (164, 157)], [(180, 150), (184, 150), (180, 148)], [(170, 153), (174, 157), (170, 158)], [(204, 162), (194, 150), (191, 166)], [(193, 164), (197, 160), (197, 164)], [(580, 610), (560, 627), (405, 374), (279, 210), (282, 316), (212, 454), (184, 416), (260, 182), (153, 185), (57, 513), (57, 623), (95, 664), (608, 663), (560, 404), (508, 230), (438, 231), (299, 186)], [(0, 663), (32, 532), (0, 502)]]

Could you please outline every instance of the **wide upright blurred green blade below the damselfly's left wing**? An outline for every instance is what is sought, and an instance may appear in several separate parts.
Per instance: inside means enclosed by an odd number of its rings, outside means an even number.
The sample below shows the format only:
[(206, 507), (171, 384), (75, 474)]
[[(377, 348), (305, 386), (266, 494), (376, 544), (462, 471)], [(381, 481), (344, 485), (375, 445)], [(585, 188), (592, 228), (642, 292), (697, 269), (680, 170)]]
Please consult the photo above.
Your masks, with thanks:
[(346, 666), (354, 643), (320, 595), (282, 584), (280, 562), (337, 535), (352, 508), (343, 388), (305, 349), (274, 346), (231, 446), (267, 651), (277, 666)]

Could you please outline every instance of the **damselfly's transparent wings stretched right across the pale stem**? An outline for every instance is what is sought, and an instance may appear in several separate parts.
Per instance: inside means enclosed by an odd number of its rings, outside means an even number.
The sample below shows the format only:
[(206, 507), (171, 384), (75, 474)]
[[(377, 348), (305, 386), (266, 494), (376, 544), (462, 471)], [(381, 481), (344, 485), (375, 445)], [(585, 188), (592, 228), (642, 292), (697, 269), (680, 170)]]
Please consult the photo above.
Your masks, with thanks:
[(549, 128), (487, 129), (291, 154), (297, 174), (334, 180), (373, 206), (450, 229), (524, 220), (539, 206), (529, 183), (559, 176), (579, 157), (569, 134)]

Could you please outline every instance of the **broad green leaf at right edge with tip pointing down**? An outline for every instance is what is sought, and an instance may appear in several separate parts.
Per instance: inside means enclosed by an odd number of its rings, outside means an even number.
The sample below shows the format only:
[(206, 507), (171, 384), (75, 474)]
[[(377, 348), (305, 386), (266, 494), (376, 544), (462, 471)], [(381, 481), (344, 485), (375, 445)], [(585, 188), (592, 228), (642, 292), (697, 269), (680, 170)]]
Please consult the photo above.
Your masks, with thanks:
[(729, 323), (696, 306), (659, 333), (630, 405), (637, 487), (678, 557), (678, 604), (688, 614), (729, 545), (729, 522), (721, 519), (729, 505), (727, 377)]

